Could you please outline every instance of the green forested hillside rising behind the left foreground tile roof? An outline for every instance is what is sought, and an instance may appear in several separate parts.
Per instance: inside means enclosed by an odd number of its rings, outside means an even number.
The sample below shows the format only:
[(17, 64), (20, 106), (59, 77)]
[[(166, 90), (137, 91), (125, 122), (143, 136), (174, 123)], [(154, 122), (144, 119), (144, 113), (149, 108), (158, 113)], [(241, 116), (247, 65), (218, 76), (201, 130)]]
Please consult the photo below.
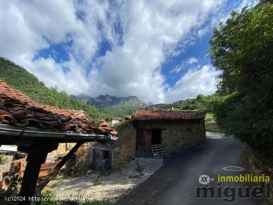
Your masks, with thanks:
[(58, 92), (56, 87), (46, 87), (26, 69), (4, 58), (0, 58), (0, 79), (38, 103), (61, 109), (84, 110), (94, 120), (106, 117), (95, 106), (87, 105), (85, 101), (71, 99), (65, 91)]

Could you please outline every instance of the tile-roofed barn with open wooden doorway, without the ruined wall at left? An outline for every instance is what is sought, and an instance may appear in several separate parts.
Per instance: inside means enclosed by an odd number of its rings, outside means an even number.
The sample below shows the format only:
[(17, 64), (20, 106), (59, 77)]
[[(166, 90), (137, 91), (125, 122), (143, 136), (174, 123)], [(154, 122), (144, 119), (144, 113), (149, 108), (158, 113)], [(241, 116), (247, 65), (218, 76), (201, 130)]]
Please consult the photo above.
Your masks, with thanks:
[[(136, 157), (154, 157), (161, 145), (168, 154), (205, 141), (205, 113), (191, 111), (137, 110)], [(143, 150), (144, 149), (144, 150)]]

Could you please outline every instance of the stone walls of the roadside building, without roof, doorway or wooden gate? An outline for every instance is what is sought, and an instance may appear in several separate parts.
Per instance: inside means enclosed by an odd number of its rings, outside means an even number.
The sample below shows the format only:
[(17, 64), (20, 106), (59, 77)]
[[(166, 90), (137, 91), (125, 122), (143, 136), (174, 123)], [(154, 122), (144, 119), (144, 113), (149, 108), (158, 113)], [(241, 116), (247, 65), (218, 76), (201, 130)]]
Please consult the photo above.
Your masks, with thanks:
[(183, 150), (186, 147), (199, 145), (205, 142), (204, 119), (191, 121), (148, 121), (132, 122), (117, 127), (117, 140), (108, 140), (104, 143), (88, 142), (83, 144), (76, 152), (76, 166), (82, 169), (88, 168), (90, 150), (88, 145), (108, 146), (117, 148), (114, 153), (113, 168), (118, 169), (135, 159), (136, 156), (136, 130), (138, 129), (160, 129), (161, 142), (165, 144), (169, 154)]

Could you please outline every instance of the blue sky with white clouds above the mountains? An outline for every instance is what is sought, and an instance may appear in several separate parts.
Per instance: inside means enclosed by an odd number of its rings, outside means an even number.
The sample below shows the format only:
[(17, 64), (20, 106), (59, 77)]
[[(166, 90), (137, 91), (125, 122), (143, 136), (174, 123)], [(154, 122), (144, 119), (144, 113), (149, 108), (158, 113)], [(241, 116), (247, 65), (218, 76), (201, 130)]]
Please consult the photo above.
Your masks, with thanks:
[(172, 103), (215, 92), (212, 30), (250, 0), (0, 0), (0, 56), (46, 86)]

